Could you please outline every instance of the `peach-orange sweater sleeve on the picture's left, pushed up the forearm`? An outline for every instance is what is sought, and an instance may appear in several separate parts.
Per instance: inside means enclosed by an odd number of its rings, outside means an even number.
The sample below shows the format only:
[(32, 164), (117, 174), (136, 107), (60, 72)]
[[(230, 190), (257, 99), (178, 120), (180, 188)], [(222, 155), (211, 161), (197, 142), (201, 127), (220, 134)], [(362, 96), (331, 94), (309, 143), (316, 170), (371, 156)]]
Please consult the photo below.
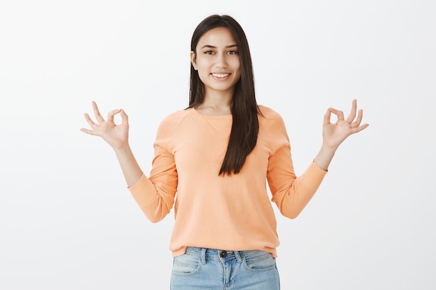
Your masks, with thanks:
[(176, 196), (178, 175), (171, 150), (175, 127), (171, 122), (162, 121), (154, 143), (155, 156), (150, 177), (142, 175), (129, 188), (134, 200), (152, 223), (157, 223), (169, 214)]

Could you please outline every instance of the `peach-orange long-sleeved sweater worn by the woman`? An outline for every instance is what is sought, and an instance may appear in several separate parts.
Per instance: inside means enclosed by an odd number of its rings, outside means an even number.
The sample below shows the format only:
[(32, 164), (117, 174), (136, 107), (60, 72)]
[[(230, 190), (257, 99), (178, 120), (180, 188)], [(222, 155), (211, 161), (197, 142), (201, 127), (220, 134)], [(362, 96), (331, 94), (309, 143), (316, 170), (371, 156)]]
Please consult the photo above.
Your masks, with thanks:
[(272, 202), (288, 218), (295, 218), (320, 186), (326, 171), (312, 162), (296, 177), (281, 116), (259, 107), (263, 116), (259, 116), (257, 144), (237, 175), (218, 175), (231, 115), (201, 115), (188, 109), (169, 115), (159, 125), (150, 177), (142, 175), (129, 190), (153, 223), (174, 205), (169, 246), (173, 256), (193, 246), (265, 250), (277, 257), (277, 222), (266, 182)]

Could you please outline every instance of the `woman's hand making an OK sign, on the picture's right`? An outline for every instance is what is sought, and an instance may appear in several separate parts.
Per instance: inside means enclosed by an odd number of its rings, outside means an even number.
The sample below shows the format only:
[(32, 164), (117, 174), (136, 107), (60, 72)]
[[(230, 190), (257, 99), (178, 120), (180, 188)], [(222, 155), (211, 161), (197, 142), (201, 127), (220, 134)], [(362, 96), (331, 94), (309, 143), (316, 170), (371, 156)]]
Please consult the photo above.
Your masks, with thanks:
[[(357, 118), (356, 112), (357, 101), (355, 99), (352, 101), (351, 112), (346, 120), (344, 119), (343, 111), (336, 110), (336, 108), (328, 108), (324, 115), (324, 123), (322, 124), (322, 145), (336, 150), (348, 136), (368, 127), (368, 124), (360, 125), (363, 111), (360, 109), (357, 112)], [(338, 118), (334, 124), (330, 122), (332, 113)]]

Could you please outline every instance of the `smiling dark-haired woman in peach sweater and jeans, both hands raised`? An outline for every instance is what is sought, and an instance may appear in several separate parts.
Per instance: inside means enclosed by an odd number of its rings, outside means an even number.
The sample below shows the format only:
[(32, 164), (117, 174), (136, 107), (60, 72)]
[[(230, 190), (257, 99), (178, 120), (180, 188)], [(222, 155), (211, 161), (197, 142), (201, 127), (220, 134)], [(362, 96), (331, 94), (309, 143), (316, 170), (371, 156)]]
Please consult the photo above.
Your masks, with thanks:
[[(189, 107), (157, 130), (155, 158), (146, 177), (130, 150), (125, 111), (91, 129), (115, 150), (127, 186), (144, 214), (162, 220), (174, 207), (171, 289), (279, 289), (279, 240), (272, 202), (295, 218), (315, 194), (338, 146), (365, 129), (356, 101), (348, 118), (328, 108), (322, 147), (297, 177), (281, 116), (258, 106), (247, 38), (229, 16), (198, 24), (191, 44)], [(114, 123), (120, 113), (121, 123)], [(331, 114), (337, 122), (330, 122)]]

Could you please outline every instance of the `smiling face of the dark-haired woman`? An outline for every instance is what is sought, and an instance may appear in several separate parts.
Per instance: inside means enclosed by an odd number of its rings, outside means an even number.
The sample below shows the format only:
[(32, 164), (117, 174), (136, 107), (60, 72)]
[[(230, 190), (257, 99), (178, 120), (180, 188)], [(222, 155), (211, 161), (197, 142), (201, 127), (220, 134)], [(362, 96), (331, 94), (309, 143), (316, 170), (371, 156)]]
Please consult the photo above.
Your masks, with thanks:
[(210, 29), (201, 36), (196, 51), (191, 51), (194, 69), (210, 92), (233, 93), (235, 83), (240, 79), (240, 57), (232, 33), (219, 27)]

